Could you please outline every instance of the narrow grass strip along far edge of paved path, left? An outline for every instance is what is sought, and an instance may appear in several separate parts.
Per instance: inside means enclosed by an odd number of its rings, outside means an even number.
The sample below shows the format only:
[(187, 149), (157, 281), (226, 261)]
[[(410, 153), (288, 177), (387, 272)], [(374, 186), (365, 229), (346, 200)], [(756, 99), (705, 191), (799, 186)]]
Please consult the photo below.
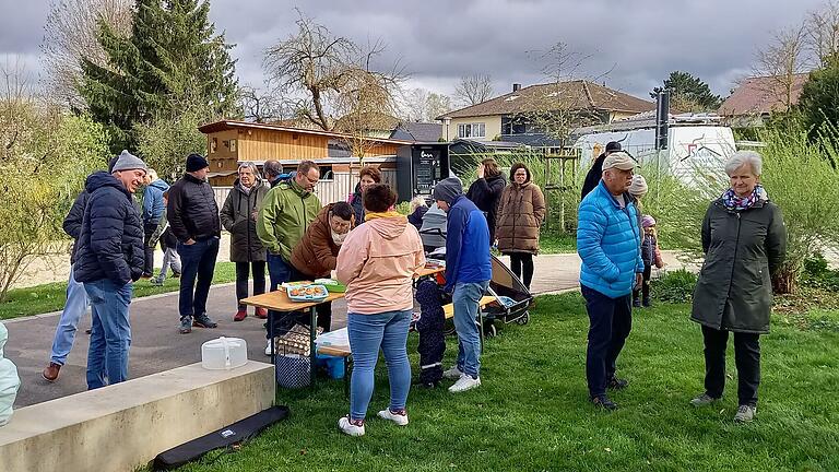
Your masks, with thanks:
[[(155, 271), (155, 274), (157, 272)], [(213, 283), (234, 282), (235, 280), (236, 264), (233, 262), (215, 264)], [(153, 286), (147, 280), (141, 279), (134, 283), (134, 298), (177, 292), (177, 290), (178, 279), (167, 278), (164, 285), (159, 287)], [(58, 311), (63, 309), (64, 302), (67, 302), (67, 282), (11, 290), (5, 302), (0, 303), (0, 320)]]

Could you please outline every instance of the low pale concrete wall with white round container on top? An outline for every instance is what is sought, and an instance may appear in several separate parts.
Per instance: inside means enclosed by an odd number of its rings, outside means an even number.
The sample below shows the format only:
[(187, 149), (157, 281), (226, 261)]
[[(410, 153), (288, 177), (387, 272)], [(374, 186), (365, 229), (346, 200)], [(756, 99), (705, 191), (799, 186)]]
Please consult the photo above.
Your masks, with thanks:
[(0, 471), (133, 471), (272, 405), (273, 367), (201, 364), (26, 406), (0, 427)]

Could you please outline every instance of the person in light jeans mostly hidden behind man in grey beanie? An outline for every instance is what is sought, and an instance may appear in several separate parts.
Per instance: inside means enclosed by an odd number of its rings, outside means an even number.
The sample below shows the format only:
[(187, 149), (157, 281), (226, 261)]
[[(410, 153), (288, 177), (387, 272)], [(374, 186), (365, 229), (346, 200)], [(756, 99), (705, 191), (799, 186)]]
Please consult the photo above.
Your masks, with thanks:
[[(108, 172), (114, 168), (114, 164), (116, 163), (117, 157), (110, 160), (110, 163), (108, 163)], [(87, 292), (84, 291), (84, 284), (76, 281), (73, 276), (75, 250), (79, 247), (76, 241), (82, 232), (82, 219), (84, 217), (84, 208), (87, 205), (88, 197), (90, 193), (87, 193), (87, 190), (82, 189), (82, 192), (79, 193), (75, 201), (73, 201), (73, 205), (64, 217), (64, 223), (62, 225), (64, 233), (73, 238), (73, 246), (70, 250), (70, 279), (67, 282), (67, 303), (64, 303), (64, 309), (61, 311), (61, 317), (58, 319), (56, 335), (52, 339), (52, 351), (49, 355), (49, 365), (47, 365), (40, 373), (44, 380), (47, 381), (56, 381), (56, 379), (58, 379), (58, 373), (61, 370), (61, 366), (64, 365), (64, 362), (67, 362), (67, 356), (70, 354), (70, 350), (73, 349), (79, 320), (91, 305), (87, 299)]]

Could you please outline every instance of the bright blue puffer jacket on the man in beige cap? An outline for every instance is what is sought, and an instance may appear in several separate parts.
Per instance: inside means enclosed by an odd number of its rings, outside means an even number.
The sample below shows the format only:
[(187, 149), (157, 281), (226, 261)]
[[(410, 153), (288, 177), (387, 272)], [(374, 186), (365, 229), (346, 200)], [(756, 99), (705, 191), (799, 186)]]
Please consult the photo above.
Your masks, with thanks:
[(629, 193), (623, 197), (625, 208), (601, 181), (582, 199), (578, 212), (580, 284), (610, 298), (629, 295), (635, 274), (643, 272), (638, 210)]

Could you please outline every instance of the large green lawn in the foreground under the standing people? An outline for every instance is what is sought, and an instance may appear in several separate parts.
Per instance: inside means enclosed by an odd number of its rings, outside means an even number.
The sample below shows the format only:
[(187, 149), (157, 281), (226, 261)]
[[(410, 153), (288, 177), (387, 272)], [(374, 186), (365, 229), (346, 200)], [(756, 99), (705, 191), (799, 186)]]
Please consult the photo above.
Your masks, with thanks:
[[(687, 318), (687, 305), (636, 312), (618, 359), (630, 385), (614, 393), (621, 409), (613, 413), (588, 402), (580, 295), (546, 296), (528, 326), (507, 326), (488, 341), (480, 389), (458, 396), (413, 389), (406, 427), (375, 417), (388, 401), (380, 364), (366, 436), (338, 430), (348, 401), (340, 380), (324, 380), (315, 391), (281, 391), (292, 416), (236, 453), (211, 452), (180, 470), (839, 470), (839, 332), (776, 323), (761, 338), (757, 421), (735, 425), (731, 347), (724, 400), (706, 409), (688, 404), (702, 390), (704, 362), (699, 327)], [(448, 347), (447, 366), (453, 340)], [(415, 352), (416, 335), (409, 349)], [(414, 370), (416, 364), (412, 354)]]

